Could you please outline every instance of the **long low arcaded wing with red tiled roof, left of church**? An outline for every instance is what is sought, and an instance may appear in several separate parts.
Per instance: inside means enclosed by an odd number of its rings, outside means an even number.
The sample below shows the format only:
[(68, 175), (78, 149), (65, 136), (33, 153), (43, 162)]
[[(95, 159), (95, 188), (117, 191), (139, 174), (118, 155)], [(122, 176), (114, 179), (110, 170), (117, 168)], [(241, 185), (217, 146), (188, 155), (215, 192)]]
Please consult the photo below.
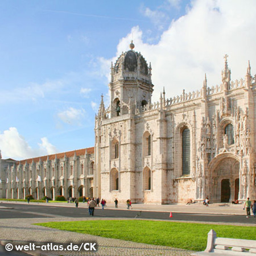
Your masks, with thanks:
[(90, 147), (21, 161), (0, 157), (0, 198), (92, 197), (93, 154)]

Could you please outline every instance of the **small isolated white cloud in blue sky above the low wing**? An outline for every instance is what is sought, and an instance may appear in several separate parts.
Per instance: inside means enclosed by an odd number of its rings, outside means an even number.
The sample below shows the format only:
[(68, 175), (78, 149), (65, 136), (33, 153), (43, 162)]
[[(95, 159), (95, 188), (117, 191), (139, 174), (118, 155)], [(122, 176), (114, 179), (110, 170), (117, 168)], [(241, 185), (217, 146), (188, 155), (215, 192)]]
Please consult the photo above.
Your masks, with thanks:
[(80, 121), (85, 116), (85, 110), (71, 107), (57, 115), (64, 123), (68, 123), (69, 125), (81, 125)]

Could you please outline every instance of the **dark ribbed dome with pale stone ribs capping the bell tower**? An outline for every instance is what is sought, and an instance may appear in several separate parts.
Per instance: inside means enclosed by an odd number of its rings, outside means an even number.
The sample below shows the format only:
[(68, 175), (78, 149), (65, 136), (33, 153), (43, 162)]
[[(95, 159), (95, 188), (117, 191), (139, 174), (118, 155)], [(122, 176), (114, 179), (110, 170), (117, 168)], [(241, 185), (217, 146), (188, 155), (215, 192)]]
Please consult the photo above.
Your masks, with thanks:
[(112, 67), (112, 82), (119, 79), (151, 82), (151, 67), (148, 67), (141, 53), (133, 50), (134, 47), (131, 41), (130, 50), (118, 57)]

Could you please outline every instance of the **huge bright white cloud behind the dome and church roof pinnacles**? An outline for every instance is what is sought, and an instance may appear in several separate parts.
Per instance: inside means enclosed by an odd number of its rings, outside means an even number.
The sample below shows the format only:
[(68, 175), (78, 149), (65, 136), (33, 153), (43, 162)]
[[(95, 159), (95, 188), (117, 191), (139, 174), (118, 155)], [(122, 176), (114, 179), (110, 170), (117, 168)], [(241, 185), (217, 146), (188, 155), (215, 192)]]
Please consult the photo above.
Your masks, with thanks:
[(133, 34), (135, 51), (152, 64), (153, 101), (159, 100), (163, 86), (168, 98), (181, 94), (183, 89), (200, 90), (204, 73), (208, 86), (220, 84), (225, 53), (229, 55), (232, 79), (239, 80), (245, 76), (248, 60), (255, 72), (255, 13), (254, 0), (246, 1), (246, 5), (233, 0), (195, 0), (187, 14), (172, 21), (157, 44), (143, 43), (142, 31), (133, 27), (119, 41), (117, 55), (101, 63), (114, 63), (122, 51), (129, 49)]

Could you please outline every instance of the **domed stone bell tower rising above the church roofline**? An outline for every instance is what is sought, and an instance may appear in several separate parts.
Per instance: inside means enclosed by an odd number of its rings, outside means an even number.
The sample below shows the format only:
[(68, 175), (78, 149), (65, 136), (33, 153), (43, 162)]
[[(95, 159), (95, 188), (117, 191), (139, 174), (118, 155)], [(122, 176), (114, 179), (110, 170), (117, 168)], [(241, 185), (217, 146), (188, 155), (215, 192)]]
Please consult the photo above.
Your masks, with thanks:
[(131, 41), (130, 50), (122, 52), (111, 66), (109, 83), (111, 117), (129, 113), (131, 105), (142, 108), (151, 104), (154, 86), (151, 82), (151, 64), (148, 67), (144, 57), (141, 53), (135, 52), (134, 47)]

